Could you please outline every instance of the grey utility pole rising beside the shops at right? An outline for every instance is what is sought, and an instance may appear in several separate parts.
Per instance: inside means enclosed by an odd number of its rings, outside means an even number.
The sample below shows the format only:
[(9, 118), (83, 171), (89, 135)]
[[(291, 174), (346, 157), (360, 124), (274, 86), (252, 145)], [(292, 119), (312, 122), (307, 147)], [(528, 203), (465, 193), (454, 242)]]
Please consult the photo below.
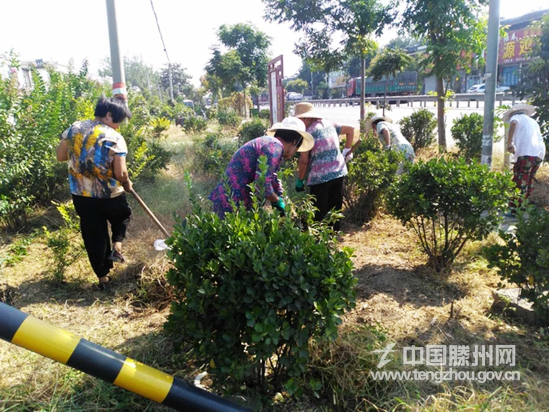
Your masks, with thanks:
[(481, 163), (492, 168), (493, 111), (495, 108), (495, 84), (498, 80), (498, 43), (500, 41), (500, 0), (490, 0), (488, 16), (488, 41), (486, 75), (484, 76), (484, 125), (482, 127)]

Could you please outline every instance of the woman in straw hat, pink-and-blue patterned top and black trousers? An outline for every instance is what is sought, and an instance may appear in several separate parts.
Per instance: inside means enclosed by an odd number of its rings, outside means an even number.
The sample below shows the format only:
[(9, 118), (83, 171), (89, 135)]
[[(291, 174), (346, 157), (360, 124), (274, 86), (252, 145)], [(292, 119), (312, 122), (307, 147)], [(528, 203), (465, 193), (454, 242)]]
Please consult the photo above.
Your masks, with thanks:
[[(296, 191), (305, 190), (305, 176), (310, 193), (315, 196), (314, 205), (318, 209), (314, 218), (323, 220), (331, 209), (340, 210), (343, 205), (343, 178), (347, 176), (347, 165), (353, 157), (351, 146), (355, 129), (353, 126), (342, 126), (323, 119), (314, 112), (311, 103), (303, 102), (295, 106), (295, 116), (307, 126), (314, 138), (314, 147), (303, 150), (299, 157), (299, 171)], [(347, 135), (345, 148), (339, 148), (339, 135)], [(340, 223), (334, 224), (339, 230)]]

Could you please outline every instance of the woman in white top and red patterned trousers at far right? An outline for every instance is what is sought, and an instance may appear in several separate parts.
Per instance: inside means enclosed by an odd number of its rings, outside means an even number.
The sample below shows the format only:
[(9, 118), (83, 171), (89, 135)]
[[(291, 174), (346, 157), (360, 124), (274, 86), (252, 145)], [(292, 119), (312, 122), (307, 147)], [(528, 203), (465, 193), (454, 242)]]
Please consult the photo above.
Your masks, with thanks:
[[(517, 185), (524, 198), (532, 193), (534, 176), (545, 158), (545, 142), (541, 136), (539, 124), (530, 117), (535, 112), (535, 106), (530, 104), (515, 104), (503, 113), (503, 121), (509, 126), (507, 150), (513, 153), (513, 182)], [(518, 205), (517, 205), (518, 203)], [(509, 202), (511, 214), (514, 214), (522, 199)]]

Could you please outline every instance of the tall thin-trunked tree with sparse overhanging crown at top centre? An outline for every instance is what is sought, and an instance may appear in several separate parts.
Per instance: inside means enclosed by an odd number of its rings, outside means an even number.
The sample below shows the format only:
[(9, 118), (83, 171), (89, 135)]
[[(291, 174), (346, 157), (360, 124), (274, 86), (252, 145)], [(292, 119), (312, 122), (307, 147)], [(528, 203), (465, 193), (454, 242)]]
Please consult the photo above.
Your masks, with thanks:
[[(378, 0), (263, 0), (266, 18), (290, 22), (303, 34), (296, 52), (325, 71), (341, 66), (344, 56), (362, 59), (364, 84), (366, 56), (377, 49), (373, 36), (379, 36), (393, 21), (392, 6)], [(341, 38), (334, 46), (333, 38)], [(364, 87), (360, 99), (360, 119), (364, 121)]]

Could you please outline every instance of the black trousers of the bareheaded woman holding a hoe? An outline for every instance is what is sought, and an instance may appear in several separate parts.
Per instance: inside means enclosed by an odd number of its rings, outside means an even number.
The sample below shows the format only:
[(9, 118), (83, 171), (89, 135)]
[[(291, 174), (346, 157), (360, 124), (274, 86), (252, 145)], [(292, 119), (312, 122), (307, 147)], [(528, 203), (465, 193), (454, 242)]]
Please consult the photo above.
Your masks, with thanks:
[(80, 231), (91, 267), (97, 277), (104, 277), (113, 268), (113, 262), (107, 259), (111, 250), (107, 222), (113, 232), (113, 243), (121, 242), (126, 237), (132, 216), (126, 194), (115, 198), (90, 198), (73, 194), (73, 203), (80, 216)]

